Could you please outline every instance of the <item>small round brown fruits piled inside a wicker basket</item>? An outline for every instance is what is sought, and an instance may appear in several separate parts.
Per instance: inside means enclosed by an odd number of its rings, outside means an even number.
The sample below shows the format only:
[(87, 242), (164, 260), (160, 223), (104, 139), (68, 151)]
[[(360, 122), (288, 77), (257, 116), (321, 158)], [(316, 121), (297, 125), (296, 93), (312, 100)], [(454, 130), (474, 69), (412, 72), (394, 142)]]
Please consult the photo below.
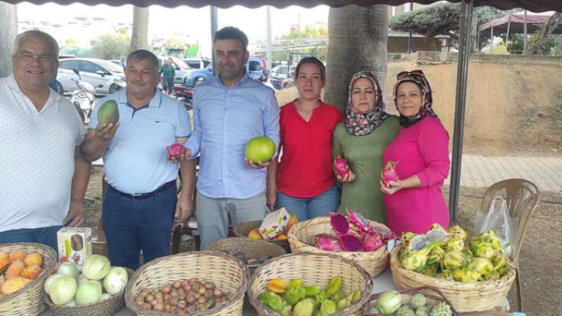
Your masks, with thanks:
[(195, 277), (166, 283), (157, 290), (143, 289), (135, 296), (138, 307), (171, 315), (195, 314), (227, 301), (228, 294), (218, 289), (213, 282)]

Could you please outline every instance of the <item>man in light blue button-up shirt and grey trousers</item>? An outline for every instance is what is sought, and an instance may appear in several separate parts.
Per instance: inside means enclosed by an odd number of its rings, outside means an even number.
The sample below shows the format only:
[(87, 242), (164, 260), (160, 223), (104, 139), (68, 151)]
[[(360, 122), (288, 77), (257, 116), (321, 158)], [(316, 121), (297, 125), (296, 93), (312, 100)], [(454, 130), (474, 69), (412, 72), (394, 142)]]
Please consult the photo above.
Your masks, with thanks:
[(268, 136), (279, 145), (279, 106), (273, 91), (244, 71), (248, 39), (235, 27), (214, 35), (218, 77), (195, 88), (193, 134), (185, 144), (200, 157), (197, 229), (201, 249), (228, 235), (228, 224), (261, 220), (266, 213), (269, 162), (244, 159), (251, 138)]

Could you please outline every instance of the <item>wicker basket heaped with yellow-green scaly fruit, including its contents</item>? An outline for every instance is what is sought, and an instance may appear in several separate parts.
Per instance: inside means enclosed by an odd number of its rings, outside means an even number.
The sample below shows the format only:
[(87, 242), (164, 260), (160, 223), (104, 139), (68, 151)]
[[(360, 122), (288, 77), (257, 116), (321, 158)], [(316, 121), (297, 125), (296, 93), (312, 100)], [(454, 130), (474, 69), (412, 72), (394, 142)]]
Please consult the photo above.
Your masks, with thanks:
[[(443, 292), (457, 312), (481, 312), (506, 298), (515, 269), (493, 231), (466, 240), (460, 226), (433, 224), (426, 234), (405, 232), (391, 254), (394, 284), (400, 290), (422, 286)], [(423, 294), (431, 292), (420, 290)]]

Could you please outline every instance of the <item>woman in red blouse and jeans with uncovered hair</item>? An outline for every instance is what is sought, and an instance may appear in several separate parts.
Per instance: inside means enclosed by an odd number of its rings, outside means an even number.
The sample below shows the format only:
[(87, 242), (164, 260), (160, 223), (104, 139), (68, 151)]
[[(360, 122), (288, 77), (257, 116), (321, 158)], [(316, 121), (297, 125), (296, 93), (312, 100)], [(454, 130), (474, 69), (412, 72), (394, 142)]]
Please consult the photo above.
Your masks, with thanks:
[[(285, 207), (300, 220), (336, 211), (339, 192), (332, 172), (332, 131), (343, 120), (341, 112), (320, 100), (326, 80), (325, 66), (316, 58), (303, 58), (295, 67), (299, 98), (281, 108), (280, 157), (275, 173), (268, 175), (268, 206)], [(275, 194), (276, 193), (276, 194)]]

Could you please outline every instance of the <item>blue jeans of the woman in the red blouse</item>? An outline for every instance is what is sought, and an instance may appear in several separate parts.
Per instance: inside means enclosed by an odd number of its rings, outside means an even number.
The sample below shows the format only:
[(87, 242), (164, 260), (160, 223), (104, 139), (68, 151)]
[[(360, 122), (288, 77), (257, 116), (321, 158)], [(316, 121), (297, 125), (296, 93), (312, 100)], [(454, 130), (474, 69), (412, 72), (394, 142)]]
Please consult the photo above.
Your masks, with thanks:
[(338, 208), (338, 187), (332, 185), (328, 190), (315, 197), (291, 197), (277, 192), (277, 208), (285, 207), (289, 213), (295, 213), (299, 222), (319, 216), (328, 216)]

